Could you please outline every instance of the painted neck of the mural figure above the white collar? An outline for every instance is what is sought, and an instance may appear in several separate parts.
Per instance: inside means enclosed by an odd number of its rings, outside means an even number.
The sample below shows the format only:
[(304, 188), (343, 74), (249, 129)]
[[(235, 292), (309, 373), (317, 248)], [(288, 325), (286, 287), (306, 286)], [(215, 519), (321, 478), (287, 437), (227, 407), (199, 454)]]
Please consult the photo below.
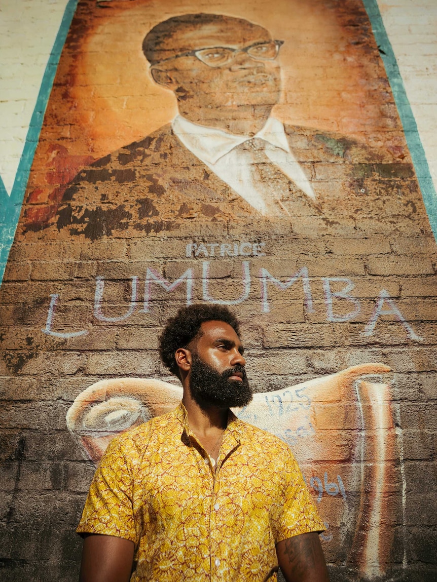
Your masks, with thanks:
[(272, 105), (242, 105), (191, 111), (179, 103), (179, 113), (185, 119), (203, 127), (221, 129), (234, 136), (254, 136), (266, 125), (272, 108)]

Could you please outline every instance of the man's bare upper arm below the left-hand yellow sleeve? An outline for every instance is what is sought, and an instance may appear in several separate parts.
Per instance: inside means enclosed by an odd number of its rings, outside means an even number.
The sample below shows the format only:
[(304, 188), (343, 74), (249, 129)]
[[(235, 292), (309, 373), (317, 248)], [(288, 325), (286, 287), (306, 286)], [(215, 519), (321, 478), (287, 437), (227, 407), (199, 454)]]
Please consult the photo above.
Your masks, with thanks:
[(132, 573), (131, 540), (114, 535), (87, 535), (83, 541), (79, 582), (129, 582)]

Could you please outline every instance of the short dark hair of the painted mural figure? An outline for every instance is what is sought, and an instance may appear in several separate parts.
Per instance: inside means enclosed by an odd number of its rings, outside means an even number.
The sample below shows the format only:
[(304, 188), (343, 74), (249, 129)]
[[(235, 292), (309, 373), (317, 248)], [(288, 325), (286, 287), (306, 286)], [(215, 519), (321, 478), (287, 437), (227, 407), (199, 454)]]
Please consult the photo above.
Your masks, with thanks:
[[(206, 26), (207, 24), (213, 24), (218, 21), (224, 24), (226, 22), (248, 22), (248, 20), (241, 18), (221, 14), (206, 14), (204, 12), (172, 16), (158, 23), (146, 34), (143, 40), (143, 53), (150, 65), (156, 65), (163, 58), (166, 58), (166, 56), (171, 56), (165, 55), (165, 49), (167, 49), (166, 43), (179, 29), (193, 29), (197, 26)], [(182, 48), (182, 50), (184, 49)]]

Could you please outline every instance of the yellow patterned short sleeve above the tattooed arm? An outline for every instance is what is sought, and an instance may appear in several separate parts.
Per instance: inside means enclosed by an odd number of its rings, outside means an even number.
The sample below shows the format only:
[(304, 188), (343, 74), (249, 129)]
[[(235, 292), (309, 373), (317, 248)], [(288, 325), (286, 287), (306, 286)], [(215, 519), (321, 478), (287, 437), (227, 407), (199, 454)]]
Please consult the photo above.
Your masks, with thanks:
[(280, 499), (272, 523), (275, 543), (310, 531), (324, 531), (323, 521), (290, 449), (284, 455), (282, 476)]

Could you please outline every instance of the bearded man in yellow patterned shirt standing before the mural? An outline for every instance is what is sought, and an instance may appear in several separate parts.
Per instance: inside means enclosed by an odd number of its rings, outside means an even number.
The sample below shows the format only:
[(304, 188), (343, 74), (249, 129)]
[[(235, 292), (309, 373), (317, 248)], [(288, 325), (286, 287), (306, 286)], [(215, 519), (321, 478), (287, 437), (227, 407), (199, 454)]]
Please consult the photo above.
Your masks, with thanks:
[(252, 399), (238, 321), (193, 305), (168, 321), (164, 364), (184, 396), (115, 438), (77, 531), (82, 582), (329, 580), (323, 530), (288, 446), (230, 411)]

